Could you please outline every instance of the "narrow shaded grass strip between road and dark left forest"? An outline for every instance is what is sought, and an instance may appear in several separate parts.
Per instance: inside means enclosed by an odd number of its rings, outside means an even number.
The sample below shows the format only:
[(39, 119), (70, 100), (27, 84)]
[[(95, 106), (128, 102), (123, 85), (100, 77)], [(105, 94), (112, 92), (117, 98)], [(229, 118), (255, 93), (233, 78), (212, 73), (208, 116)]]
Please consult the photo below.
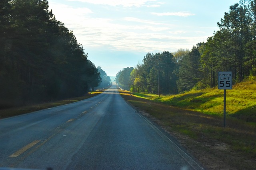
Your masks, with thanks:
[(38, 110), (42, 110), (42, 109), (47, 109), (50, 107), (56, 107), (56, 106), (60, 106), (60, 105), (64, 105), (64, 104), (78, 102), (80, 100), (84, 100), (84, 99), (96, 96), (100, 93), (102, 93), (102, 91), (95, 91), (95, 92), (92, 92), (92, 94), (88, 93), (88, 94), (86, 94), (82, 97), (78, 97), (78, 98), (58, 100), (58, 101), (47, 102), (47, 103), (43, 103), (43, 104), (33, 104), (33, 105), (27, 105), (27, 106), (23, 106), (23, 107), (12, 107), (12, 108), (8, 108), (8, 109), (0, 109), (0, 119), (5, 118), (5, 117), (21, 115), (24, 113), (30, 113), (30, 112), (38, 111)]

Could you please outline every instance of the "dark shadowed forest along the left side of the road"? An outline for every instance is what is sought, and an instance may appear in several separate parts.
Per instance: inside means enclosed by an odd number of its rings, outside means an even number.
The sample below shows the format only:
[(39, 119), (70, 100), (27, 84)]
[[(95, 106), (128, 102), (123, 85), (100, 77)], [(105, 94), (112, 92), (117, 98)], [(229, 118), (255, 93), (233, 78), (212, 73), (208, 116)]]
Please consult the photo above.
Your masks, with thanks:
[(82, 96), (101, 83), (47, 0), (0, 1), (0, 108)]

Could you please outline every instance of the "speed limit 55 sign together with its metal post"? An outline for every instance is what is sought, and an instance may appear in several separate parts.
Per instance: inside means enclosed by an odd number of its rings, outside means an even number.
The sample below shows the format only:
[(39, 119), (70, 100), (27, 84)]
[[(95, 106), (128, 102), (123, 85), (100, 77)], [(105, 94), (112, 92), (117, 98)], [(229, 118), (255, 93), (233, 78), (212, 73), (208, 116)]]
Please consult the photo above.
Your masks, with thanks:
[(224, 127), (226, 127), (226, 89), (232, 89), (232, 72), (218, 72), (218, 89), (224, 89)]

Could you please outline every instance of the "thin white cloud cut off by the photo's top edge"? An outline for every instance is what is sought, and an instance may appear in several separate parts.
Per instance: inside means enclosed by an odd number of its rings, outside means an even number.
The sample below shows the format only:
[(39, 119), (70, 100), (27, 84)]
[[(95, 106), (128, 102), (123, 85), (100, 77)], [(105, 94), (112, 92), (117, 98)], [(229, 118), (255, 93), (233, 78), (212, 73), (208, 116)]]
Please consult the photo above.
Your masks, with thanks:
[(96, 5), (140, 7), (145, 5), (147, 2), (152, 2), (155, 0), (69, 0), (69, 1), (87, 2), (90, 4), (96, 4)]

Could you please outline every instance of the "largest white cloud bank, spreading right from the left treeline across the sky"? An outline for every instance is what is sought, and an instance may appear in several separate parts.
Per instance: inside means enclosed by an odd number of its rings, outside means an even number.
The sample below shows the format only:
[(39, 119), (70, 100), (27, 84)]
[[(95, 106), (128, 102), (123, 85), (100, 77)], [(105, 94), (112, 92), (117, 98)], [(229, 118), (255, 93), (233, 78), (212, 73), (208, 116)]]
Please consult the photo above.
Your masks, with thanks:
[[(104, 1), (105, 2), (105, 1)], [(184, 44), (196, 44), (198, 39), (189, 37), (177, 25), (135, 17), (96, 18), (88, 8), (72, 8), (62, 4), (49, 3), (56, 19), (64, 22), (85, 49), (102, 48), (114, 51), (164, 51), (184, 48)], [(94, 16), (91, 16), (93, 14)], [(90, 15), (90, 16), (89, 16)], [(125, 22), (117, 23), (122, 20)], [(184, 34), (186, 37), (184, 37)], [(192, 48), (192, 47), (191, 47)]]

